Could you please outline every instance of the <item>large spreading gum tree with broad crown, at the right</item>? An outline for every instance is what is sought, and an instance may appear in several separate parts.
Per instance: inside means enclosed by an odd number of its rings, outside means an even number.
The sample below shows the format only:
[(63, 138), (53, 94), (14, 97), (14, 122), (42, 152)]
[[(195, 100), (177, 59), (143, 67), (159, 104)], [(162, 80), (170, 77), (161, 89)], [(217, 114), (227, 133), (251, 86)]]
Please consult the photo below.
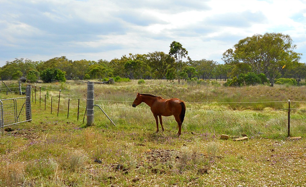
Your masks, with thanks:
[(282, 70), (285, 64), (300, 60), (300, 53), (293, 50), (296, 45), (289, 35), (282, 33), (255, 34), (240, 40), (233, 49), (223, 53), (226, 63), (246, 63), (251, 66), (253, 72), (263, 73), (269, 77), (271, 86), (274, 78)]

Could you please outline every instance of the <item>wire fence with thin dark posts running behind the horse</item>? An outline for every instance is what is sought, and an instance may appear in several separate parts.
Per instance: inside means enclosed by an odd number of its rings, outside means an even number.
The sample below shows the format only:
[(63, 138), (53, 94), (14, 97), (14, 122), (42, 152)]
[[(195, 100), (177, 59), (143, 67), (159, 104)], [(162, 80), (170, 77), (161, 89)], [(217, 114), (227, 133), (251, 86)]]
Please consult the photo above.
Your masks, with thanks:
[[(16, 86), (16, 85), (15, 85)], [(8, 90), (8, 88), (2, 88)], [(11, 90), (14, 90), (13, 88)], [(16, 89), (15, 89), (16, 90)], [(21, 93), (25, 90), (25, 87), (20, 87)], [(39, 104), (40, 107), (45, 110), (49, 110), (51, 114), (66, 114), (67, 118), (77, 117), (77, 120), (83, 119), (87, 110), (87, 91), (84, 88), (75, 89), (54, 89), (48, 87), (32, 87), (32, 103)], [(132, 102), (129, 100), (99, 100), (95, 99), (95, 106), (99, 106), (100, 109), (106, 110), (106, 112), (113, 113), (114, 111), (123, 111), (124, 113), (135, 110), (146, 110), (150, 113), (150, 107), (147, 105), (140, 105), (137, 108), (132, 107)], [(207, 113), (272, 113), (272, 112), (288, 112), (288, 126), (290, 112), (300, 112), (302, 115), (306, 113), (305, 104), (306, 101), (263, 101), (263, 102), (185, 102), (186, 114), (189, 115), (201, 115)], [(291, 103), (291, 107), (290, 107)], [(273, 107), (263, 107), (261, 110), (250, 110), (252, 106), (256, 105), (277, 105)], [(256, 107), (255, 107), (256, 108)], [(103, 111), (104, 112), (104, 111)], [(282, 114), (283, 115), (283, 114)], [(289, 134), (289, 133), (288, 133)]]

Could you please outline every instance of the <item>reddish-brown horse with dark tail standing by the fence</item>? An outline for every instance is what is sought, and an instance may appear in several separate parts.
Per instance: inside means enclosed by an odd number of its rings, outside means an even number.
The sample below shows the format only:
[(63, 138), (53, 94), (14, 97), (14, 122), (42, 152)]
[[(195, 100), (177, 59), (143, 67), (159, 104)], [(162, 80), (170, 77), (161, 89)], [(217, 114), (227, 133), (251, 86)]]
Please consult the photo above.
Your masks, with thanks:
[(152, 94), (140, 94), (137, 93), (136, 99), (134, 100), (132, 107), (136, 107), (140, 103), (146, 103), (151, 107), (151, 111), (156, 121), (156, 132), (158, 133), (158, 118), (162, 127), (162, 131), (164, 128), (162, 126), (162, 116), (174, 116), (177, 126), (178, 132), (177, 135), (181, 135), (181, 126), (184, 121), (186, 105), (185, 102), (181, 99), (172, 98), (172, 99), (163, 99), (162, 97), (152, 95)]

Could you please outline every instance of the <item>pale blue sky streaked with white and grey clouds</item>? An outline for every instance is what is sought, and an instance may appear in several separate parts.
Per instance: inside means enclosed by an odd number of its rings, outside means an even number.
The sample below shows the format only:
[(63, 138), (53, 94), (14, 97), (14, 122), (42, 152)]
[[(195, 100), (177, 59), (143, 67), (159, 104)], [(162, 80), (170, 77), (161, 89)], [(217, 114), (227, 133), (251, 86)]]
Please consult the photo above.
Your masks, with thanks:
[(110, 61), (169, 52), (192, 60), (222, 53), (254, 34), (289, 34), (306, 62), (306, 0), (0, 0), (0, 67), (15, 58)]

